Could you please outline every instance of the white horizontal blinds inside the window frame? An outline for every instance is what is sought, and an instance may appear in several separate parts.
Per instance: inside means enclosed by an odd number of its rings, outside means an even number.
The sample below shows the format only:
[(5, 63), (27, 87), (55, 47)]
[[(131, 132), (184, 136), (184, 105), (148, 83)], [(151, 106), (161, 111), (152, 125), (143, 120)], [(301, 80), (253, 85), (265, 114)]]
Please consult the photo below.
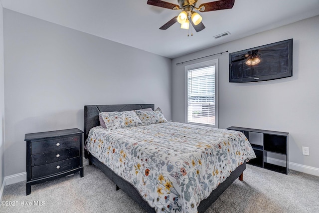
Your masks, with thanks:
[(187, 122), (215, 125), (215, 66), (187, 71)]

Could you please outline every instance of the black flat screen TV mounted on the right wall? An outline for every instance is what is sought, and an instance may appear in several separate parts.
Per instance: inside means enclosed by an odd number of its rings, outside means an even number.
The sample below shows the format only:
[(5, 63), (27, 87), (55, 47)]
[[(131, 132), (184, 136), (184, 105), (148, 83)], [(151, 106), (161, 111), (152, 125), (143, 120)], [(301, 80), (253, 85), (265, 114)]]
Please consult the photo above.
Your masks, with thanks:
[(293, 76), (293, 39), (229, 54), (229, 82), (268, 81)]

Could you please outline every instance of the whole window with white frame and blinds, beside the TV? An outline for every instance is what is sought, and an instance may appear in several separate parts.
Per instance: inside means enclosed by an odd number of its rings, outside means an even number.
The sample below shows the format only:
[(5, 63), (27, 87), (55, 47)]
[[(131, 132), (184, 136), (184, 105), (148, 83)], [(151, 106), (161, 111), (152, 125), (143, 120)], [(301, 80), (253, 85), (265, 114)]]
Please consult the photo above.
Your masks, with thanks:
[(186, 121), (218, 128), (218, 59), (185, 66)]

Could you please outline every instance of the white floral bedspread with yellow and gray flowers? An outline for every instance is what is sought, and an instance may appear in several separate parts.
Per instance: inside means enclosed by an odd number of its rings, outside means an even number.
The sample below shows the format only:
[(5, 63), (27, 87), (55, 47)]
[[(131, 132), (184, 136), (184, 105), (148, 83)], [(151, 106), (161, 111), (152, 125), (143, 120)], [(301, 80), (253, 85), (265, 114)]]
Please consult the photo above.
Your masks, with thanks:
[(256, 157), (241, 132), (176, 122), (94, 127), (86, 148), (133, 184), (156, 212), (197, 213), (200, 201)]

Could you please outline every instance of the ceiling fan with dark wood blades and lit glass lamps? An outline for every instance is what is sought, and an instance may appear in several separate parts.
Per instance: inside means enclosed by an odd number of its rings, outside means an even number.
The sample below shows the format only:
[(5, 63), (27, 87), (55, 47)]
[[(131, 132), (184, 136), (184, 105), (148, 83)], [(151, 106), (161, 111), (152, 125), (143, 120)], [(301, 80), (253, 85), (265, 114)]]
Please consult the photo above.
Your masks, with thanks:
[(148, 4), (154, 6), (160, 6), (168, 9), (177, 10), (180, 9), (179, 15), (170, 19), (167, 23), (162, 25), (160, 29), (167, 29), (175, 22), (181, 24), (180, 28), (188, 29), (189, 23), (194, 27), (196, 32), (199, 32), (205, 28), (204, 24), (201, 22), (202, 17), (195, 12), (198, 10), (200, 12), (207, 12), (220, 9), (230, 9), (233, 7), (235, 0), (217, 0), (207, 3), (202, 3), (199, 7), (196, 7), (197, 0), (177, 0), (178, 4), (162, 1), (162, 0), (148, 0)]

